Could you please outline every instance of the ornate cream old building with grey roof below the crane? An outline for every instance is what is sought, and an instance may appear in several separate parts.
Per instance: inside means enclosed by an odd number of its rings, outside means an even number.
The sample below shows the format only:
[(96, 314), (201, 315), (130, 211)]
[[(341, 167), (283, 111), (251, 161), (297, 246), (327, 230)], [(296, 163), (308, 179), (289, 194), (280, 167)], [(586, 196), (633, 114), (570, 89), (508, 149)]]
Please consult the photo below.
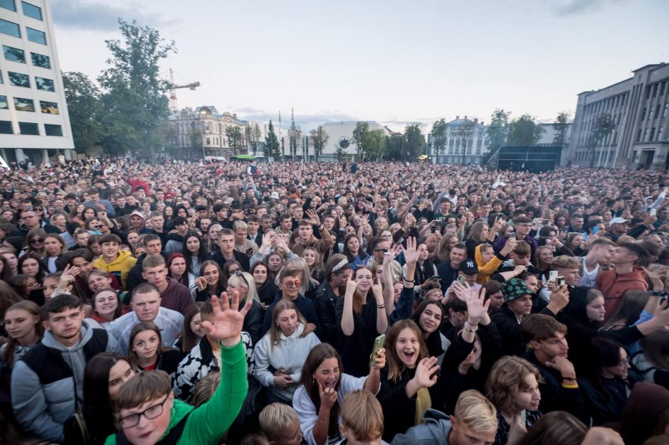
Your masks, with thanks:
[[(228, 136), (228, 128), (237, 128), (241, 135), (236, 148)], [(213, 105), (192, 109), (186, 107), (169, 117), (169, 145), (177, 149), (179, 158), (200, 159), (202, 156), (263, 154), (269, 123), (237, 119), (236, 114), (218, 113)], [(174, 153), (174, 151), (173, 151)]]

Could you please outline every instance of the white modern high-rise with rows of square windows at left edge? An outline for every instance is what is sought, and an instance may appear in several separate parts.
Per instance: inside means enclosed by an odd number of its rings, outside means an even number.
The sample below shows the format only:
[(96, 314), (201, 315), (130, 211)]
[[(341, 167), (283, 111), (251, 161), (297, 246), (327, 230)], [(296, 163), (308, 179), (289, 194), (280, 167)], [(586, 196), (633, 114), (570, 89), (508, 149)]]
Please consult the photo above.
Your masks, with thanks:
[(0, 0), (0, 156), (42, 161), (74, 142), (48, 0)]

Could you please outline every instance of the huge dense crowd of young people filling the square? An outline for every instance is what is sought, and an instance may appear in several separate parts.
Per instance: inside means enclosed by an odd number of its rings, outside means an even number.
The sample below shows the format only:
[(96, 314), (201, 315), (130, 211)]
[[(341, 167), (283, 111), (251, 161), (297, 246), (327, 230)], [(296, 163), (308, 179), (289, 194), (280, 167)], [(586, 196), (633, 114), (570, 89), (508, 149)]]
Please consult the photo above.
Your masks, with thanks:
[(0, 172), (0, 443), (668, 444), (669, 174)]

